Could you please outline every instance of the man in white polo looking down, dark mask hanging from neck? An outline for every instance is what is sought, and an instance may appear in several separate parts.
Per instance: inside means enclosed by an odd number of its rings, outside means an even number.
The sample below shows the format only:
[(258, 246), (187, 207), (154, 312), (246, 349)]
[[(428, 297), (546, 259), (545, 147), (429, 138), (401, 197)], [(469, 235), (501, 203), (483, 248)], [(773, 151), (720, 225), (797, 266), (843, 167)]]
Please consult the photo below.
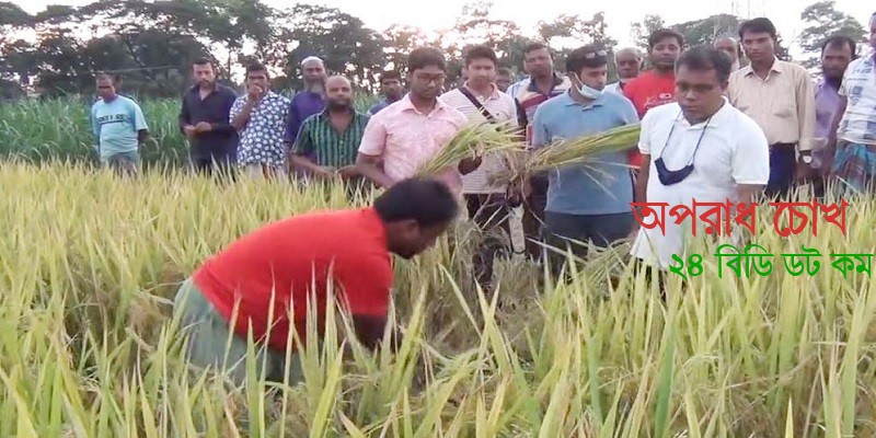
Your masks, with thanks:
[[(636, 182), (637, 199), (669, 207), (665, 232), (636, 223), (632, 254), (660, 272), (673, 264), (673, 254), (687, 260), (683, 233), (690, 231), (675, 223), (668, 214), (671, 207), (693, 208), (694, 200), (750, 203), (770, 180), (770, 147), (763, 130), (724, 97), (729, 58), (696, 47), (679, 58), (676, 69), (676, 102), (645, 115), (638, 143), (643, 177)], [(654, 218), (637, 208), (637, 216), (652, 223)], [(659, 208), (655, 210), (659, 215)], [(696, 223), (703, 227), (702, 221)]]

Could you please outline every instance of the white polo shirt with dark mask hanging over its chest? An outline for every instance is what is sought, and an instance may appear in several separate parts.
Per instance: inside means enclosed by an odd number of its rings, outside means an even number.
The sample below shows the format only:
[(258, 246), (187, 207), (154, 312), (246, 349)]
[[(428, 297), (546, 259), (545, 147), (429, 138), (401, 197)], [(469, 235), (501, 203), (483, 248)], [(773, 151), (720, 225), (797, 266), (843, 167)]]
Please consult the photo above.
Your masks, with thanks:
[[(735, 204), (738, 201), (738, 184), (765, 185), (770, 180), (770, 147), (763, 130), (751, 117), (733, 107), (726, 97), (724, 101), (724, 106), (708, 120), (705, 131), (706, 123), (691, 126), (681, 115), (678, 103), (652, 108), (642, 119), (638, 150), (652, 155), (646, 201), (669, 204), (662, 216), (666, 232), (659, 227), (649, 230), (642, 227), (633, 244), (633, 256), (647, 264), (657, 261), (660, 268), (666, 269), (673, 264), (673, 254), (687, 263), (683, 242), (692, 238), (690, 224), (687, 221), (675, 223), (676, 217), (669, 216), (672, 207), (685, 205), (693, 208), (694, 199), (698, 203), (725, 203), (729, 198)], [(675, 130), (669, 139), (672, 126)], [(680, 170), (690, 161), (701, 135), (693, 172), (678, 184), (665, 186), (660, 183), (655, 161), (662, 157), (667, 169)], [(659, 207), (654, 209), (660, 215)], [(702, 211), (696, 212), (698, 230), (704, 228), (703, 221), (699, 220), (700, 214)], [(643, 221), (653, 223), (654, 218), (646, 217)], [(698, 231), (696, 235), (702, 234), (703, 231)]]

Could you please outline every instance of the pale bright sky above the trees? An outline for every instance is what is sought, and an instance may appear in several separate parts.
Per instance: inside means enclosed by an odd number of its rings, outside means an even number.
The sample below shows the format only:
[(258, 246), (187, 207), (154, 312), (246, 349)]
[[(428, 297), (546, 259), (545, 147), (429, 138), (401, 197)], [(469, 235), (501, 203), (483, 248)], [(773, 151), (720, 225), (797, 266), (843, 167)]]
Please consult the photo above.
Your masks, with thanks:
[[(263, 0), (279, 8), (284, 0)], [(642, 21), (646, 14), (659, 14), (667, 24), (676, 24), (703, 19), (717, 13), (735, 13), (742, 19), (766, 16), (775, 23), (785, 42), (791, 42), (803, 28), (800, 12), (816, 0), (627, 0), (627, 1), (581, 1), (576, 4), (569, 0), (538, 0), (535, 4), (514, 0), (495, 0), (491, 15), (499, 20), (510, 20), (521, 31), (531, 35), (540, 20), (551, 21), (562, 13), (579, 14), (590, 18), (604, 12), (608, 33), (621, 46), (632, 45), (631, 23)], [(27, 12), (35, 13), (46, 4), (82, 5), (92, 0), (13, 0)], [(466, 0), (301, 0), (303, 3), (323, 4), (338, 8), (360, 18), (365, 24), (383, 31), (392, 24), (406, 24), (426, 32), (452, 27), (462, 12)], [(574, 8), (570, 8), (575, 4)], [(876, 4), (865, 0), (835, 0), (837, 9), (852, 14), (862, 24), (876, 11)], [(538, 9), (538, 12), (535, 11)], [(792, 47), (792, 56), (796, 55)]]

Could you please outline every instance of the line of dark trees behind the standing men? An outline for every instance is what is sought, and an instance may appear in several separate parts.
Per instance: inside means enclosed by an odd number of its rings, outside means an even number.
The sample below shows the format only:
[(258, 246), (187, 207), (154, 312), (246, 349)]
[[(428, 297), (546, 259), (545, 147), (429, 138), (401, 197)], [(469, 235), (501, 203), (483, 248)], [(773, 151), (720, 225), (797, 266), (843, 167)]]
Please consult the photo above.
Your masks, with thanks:
[[(608, 35), (601, 12), (590, 18), (563, 14), (540, 22), (533, 35), (525, 36), (515, 22), (492, 19), (491, 8), (488, 0), (474, 0), (452, 28), (428, 37), (404, 25), (378, 32), (339, 9), (301, 3), (276, 9), (252, 0), (99, 0), (28, 14), (16, 4), (0, 2), (0, 97), (20, 97), (28, 89), (46, 99), (92, 93), (100, 71), (119, 73), (129, 93), (177, 96), (188, 84), (191, 62), (204, 56), (217, 62), (223, 78), (257, 60), (277, 71), (277, 89), (296, 90), (301, 85), (298, 65), (316, 55), (328, 70), (374, 91), (380, 71), (401, 67), (414, 47), (425, 44), (447, 53), (449, 81), (459, 77), (462, 53), (472, 44), (489, 45), (500, 64), (516, 73), (521, 73), (523, 47), (530, 41), (549, 43), (557, 67), (574, 48), (562, 42), (596, 43), (609, 49), (618, 44)], [(800, 19), (806, 28), (797, 43), (807, 58), (799, 61), (807, 67), (815, 65), (812, 56), (831, 34), (864, 41), (861, 23), (837, 11), (832, 0), (807, 7)], [(739, 23), (737, 16), (716, 14), (668, 25), (658, 15), (647, 15), (633, 25), (633, 34), (636, 45), (647, 50), (647, 35), (659, 27), (679, 31), (689, 45), (696, 45), (735, 34)], [(786, 44), (781, 46), (788, 59)]]

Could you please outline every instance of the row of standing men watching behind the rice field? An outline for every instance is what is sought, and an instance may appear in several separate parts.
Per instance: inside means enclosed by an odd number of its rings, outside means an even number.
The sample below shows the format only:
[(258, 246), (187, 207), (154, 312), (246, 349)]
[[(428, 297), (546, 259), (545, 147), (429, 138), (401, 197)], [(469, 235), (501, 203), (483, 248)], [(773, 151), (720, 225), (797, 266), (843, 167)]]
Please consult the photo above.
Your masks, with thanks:
[[(874, 42), (876, 23), (869, 24)], [(483, 157), (437, 175), (464, 197), (470, 218), (485, 228), (506, 228), (515, 205), (509, 199), (526, 200), (523, 229), (535, 258), (543, 254), (540, 241), (607, 246), (637, 237), (634, 254), (643, 258), (645, 239), (662, 242), (658, 252), (676, 251), (677, 244), (664, 240), (679, 232), (654, 237), (637, 229), (630, 207), (635, 201), (723, 201), (728, 194), (750, 198), (760, 192), (736, 193), (738, 186), (761, 184), (768, 196), (787, 196), (802, 182), (815, 183), (820, 195), (829, 177), (856, 189), (871, 184), (876, 174), (876, 78), (873, 58), (856, 59), (853, 41), (825, 41), (818, 84), (802, 66), (777, 58), (776, 30), (764, 18), (745, 22), (738, 38), (718, 37), (687, 57), (684, 43), (676, 31), (654, 32), (647, 53), (652, 69), (644, 72), (637, 50), (619, 50), (620, 80), (611, 84), (608, 53), (596, 46), (573, 50), (560, 74), (550, 48), (530, 44), (523, 65), (528, 76), (510, 84), (495, 53), (476, 46), (464, 55), (464, 81), (446, 92), (443, 54), (422, 47), (411, 54), (405, 78), (383, 72), (384, 100), (368, 114), (354, 108), (349, 80), (327, 77), (316, 57), (301, 62), (306, 87), (291, 100), (270, 89), (263, 65), (246, 67), (246, 92), (238, 96), (217, 83), (209, 61), (198, 60), (180, 127), (197, 169), (237, 161), (251, 177), (286, 177), (293, 171), (387, 188), (413, 176), (470, 122), (517, 124), (531, 149), (641, 123), (638, 148), (602, 157), (597, 172), (566, 166), (532, 175), (525, 187), (505, 187), (491, 178), (503, 161)], [(712, 83), (693, 83), (681, 74), (704, 69), (714, 73)], [(97, 82), (102, 99), (92, 116), (101, 157), (129, 165), (136, 162), (136, 143), (147, 136), (142, 113), (115, 94), (112, 78)], [(702, 120), (688, 117), (698, 112), (707, 114)], [(736, 119), (740, 114), (746, 117)], [(131, 129), (119, 134), (125, 122)], [(749, 122), (757, 126), (753, 132), (746, 130)], [(496, 251), (477, 262), (482, 283), (489, 283)]]

